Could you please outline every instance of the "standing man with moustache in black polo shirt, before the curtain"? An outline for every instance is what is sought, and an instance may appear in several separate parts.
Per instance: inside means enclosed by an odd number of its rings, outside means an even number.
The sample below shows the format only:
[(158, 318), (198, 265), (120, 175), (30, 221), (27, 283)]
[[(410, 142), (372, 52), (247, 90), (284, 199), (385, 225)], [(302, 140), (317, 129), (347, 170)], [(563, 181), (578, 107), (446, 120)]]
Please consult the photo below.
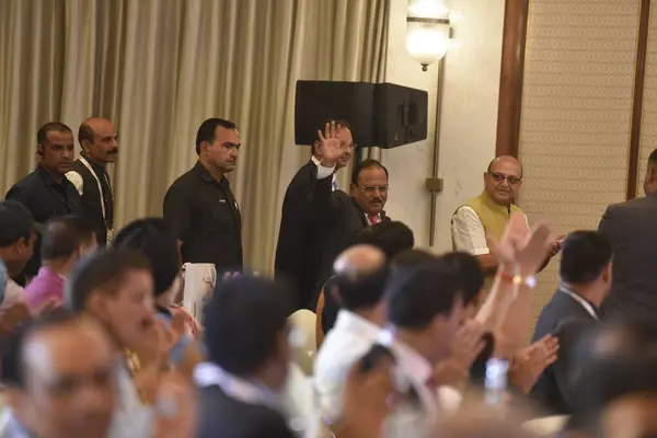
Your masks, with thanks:
[(196, 134), (196, 165), (164, 197), (164, 220), (175, 232), (183, 263), (212, 263), (217, 273), (242, 269), (242, 218), (226, 174), (238, 163), (240, 132), (208, 118)]

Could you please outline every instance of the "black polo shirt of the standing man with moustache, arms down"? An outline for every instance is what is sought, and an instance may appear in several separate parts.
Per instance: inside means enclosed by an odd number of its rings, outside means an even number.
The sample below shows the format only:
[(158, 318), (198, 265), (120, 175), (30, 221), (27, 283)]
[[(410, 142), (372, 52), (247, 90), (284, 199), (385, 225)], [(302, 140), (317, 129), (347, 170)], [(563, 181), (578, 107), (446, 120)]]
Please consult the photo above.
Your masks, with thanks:
[(242, 270), (242, 217), (226, 177), (216, 181), (197, 162), (166, 191), (164, 220), (183, 242), (183, 263)]

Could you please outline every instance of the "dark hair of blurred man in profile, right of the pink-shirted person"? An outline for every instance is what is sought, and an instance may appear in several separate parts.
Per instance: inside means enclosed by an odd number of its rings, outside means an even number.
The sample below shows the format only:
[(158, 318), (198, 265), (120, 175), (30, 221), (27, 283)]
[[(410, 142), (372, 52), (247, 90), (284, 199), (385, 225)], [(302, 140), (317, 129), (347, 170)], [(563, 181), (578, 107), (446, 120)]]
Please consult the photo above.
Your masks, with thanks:
[(96, 251), (76, 265), (65, 287), (66, 307), (82, 312), (94, 291), (114, 293), (126, 274), (134, 270), (149, 270), (150, 263), (145, 255), (127, 249)]

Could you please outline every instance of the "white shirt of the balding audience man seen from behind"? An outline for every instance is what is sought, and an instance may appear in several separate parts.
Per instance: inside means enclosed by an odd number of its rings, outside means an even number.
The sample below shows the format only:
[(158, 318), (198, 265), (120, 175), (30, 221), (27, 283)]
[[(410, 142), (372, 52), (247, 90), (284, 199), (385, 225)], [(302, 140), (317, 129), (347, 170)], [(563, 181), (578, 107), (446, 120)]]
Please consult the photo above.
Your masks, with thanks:
[(377, 342), (381, 327), (342, 309), (326, 334), (314, 365), (314, 387), (323, 415), (339, 419), (344, 387), (356, 364)]

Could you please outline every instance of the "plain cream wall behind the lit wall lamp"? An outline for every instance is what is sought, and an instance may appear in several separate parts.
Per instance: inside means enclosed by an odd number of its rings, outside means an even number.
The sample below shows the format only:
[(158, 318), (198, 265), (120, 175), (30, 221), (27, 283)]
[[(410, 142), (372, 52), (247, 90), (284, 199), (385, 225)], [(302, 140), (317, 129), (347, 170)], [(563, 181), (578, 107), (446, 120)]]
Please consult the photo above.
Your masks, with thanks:
[[(429, 137), (426, 141), (383, 151), (390, 170), (391, 192), (387, 210), (415, 232), (418, 246), (428, 247), (430, 196), (425, 180), (430, 176), (437, 66), (423, 72), (406, 54), (407, 0), (391, 0), (387, 81), (429, 92)], [(495, 155), (504, 0), (451, 0), (452, 28), (457, 46), (445, 61), (439, 176), (445, 181), (438, 195), (436, 245), (451, 250), (450, 217), (482, 189), (482, 175)]]

